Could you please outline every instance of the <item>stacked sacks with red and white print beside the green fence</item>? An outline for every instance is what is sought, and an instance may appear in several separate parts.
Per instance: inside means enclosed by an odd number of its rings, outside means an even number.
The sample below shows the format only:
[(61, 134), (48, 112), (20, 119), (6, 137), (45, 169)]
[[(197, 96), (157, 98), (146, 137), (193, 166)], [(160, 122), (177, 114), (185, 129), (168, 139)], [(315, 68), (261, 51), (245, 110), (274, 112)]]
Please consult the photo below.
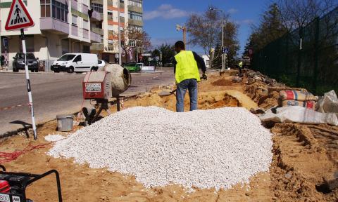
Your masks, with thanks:
[(315, 102), (318, 101), (318, 97), (312, 93), (298, 90), (281, 90), (280, 101), (281, 107), (300, 106), (315, 109)]

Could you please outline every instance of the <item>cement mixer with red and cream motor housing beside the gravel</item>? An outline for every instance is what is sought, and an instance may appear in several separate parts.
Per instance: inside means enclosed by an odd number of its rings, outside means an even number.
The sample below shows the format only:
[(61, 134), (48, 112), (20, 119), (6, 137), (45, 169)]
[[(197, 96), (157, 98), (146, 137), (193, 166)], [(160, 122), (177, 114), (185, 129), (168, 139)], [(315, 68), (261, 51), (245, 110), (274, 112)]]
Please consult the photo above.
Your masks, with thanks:
[[(107, 64), (97, 72), (87, 72), (82, 81), (83, 98), (91, 100), (94, 108), (82, 108), (86, 125), (96, 121), (102, 110), (111, 114), (111, 105), (116, 104), (120, 111), (120, 99), (123, 98), (120, 94), (129, 88), (131, 82), (130, 72), (117, 64)], [(96, 112), (96, 109), (99, 110)]]

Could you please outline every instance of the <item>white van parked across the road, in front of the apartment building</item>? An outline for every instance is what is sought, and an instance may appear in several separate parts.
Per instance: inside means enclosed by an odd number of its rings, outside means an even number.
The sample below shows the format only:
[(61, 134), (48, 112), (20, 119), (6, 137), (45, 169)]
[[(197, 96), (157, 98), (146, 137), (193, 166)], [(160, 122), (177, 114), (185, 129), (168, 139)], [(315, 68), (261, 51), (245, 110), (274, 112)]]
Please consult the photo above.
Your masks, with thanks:
[(90, 72), (97, 69), (97, 55), (90, 53), (67, 53), (51, 65), (51, 71), (54, 72)]

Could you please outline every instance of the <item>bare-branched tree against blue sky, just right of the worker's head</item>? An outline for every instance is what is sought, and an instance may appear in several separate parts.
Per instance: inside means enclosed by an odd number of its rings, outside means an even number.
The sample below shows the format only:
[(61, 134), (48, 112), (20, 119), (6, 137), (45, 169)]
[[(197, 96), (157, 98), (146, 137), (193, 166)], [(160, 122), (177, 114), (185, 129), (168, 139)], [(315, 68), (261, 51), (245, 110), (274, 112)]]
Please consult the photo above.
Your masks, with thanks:
[[(221, 32), (221, 15), (219, 12), (206, 10), (203, 14), (192, 14), (187, 20), (187, 27), (190, 32), (190, 43), (201, 46), (204, 53), (209, 55), (211, 66), (213, 60), (217, 59), (219, 55), (213, 57), (213, 50), (220, 40)], [(224, 16), (227, 20), (228, 16)]]

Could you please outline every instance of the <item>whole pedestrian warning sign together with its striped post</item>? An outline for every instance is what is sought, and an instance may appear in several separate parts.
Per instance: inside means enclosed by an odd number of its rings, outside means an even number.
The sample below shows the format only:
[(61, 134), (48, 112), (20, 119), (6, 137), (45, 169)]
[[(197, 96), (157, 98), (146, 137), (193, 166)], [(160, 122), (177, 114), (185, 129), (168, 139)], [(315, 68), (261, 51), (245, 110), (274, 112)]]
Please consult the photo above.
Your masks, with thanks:
[(26, 83), (27, 83), (27, 92), (28, 92), (28, 102), (30, 105), (30, 114), (32, 116), (32, 128), (34, 131), (34, 139), (37, 140), (37, 126), (35, 125), (34, 109), (33, 109), (33, 99), (32, 99), (32, 90), (30, 88), (30, 74), (28, 72), (27, 66), (27, 51), (25, 43), (25, 32), (24, 28), (34, 26), (34, 22), (28, 13), (25, 4), (22, 0), (13, 0), (11, 4), (11, 10), (9, 11), (5, 29), (7, 31), (20, 29), (21, 33), (21, 42), (23, 44), (23, 54), (25, 55), (25, 72), (26, 72)]

